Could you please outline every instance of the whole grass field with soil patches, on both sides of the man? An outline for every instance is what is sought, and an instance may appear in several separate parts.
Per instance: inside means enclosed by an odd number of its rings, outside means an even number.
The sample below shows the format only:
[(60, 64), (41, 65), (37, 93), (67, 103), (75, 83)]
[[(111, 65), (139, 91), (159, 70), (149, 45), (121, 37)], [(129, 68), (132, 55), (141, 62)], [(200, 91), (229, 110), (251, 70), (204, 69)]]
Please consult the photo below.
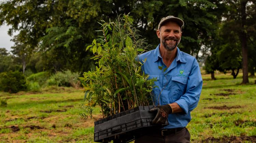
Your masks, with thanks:
[[(256, 77), (203, 75), (198, 107), (187, 128), (191, 142), (256, 142)], [(94, 120), (82, 119), (83, 90), (47, 88), (40, 93), (0, 92), (0, 142), (93, 142)], [(100, 118), (99, 108), (94, 110)]]

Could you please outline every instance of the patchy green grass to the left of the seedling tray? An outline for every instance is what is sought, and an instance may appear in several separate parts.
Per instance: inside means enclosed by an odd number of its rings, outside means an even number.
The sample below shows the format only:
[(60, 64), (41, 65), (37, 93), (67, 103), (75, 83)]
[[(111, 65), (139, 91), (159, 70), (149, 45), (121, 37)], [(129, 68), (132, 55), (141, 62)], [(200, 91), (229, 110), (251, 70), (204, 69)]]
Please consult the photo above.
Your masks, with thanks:
[(79, 115), (82, 89), (52, 87), (0, 96), (7, 100), (7, 107), (0, 108), (0, 142), (93, 142), (93, 119)]

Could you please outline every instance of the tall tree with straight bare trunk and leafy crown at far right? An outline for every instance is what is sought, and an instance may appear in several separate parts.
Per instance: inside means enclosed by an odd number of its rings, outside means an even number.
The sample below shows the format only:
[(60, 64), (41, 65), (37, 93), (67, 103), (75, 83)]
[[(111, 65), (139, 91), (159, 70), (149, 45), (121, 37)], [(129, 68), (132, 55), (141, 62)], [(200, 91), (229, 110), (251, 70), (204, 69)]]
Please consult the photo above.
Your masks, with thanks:
[[(251, 21), (255, 19), (255, 0), (224, 0), (226, 3), (227, 11), (224, 13), (223, 17), (225, 22), (231, 22), (232, 27), (227, 33), (234, 32), (239, 36), (241, 42), (242, 51), (242, 67), (243, 67), (243, 84), (249, 82), (248, 80), (248, 29), (255, 24)], [(235, 28), (236, 27), (236, 28)]]

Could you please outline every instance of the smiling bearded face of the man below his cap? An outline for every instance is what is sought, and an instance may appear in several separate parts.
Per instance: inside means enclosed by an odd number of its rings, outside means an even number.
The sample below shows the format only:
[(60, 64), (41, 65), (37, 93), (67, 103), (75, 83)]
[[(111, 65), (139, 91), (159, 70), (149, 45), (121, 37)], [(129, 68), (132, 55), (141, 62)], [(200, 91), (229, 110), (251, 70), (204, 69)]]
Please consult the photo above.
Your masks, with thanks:
[(160, 43), (167, 50), (173, 50), (181, 41), (181, 28), (176, 22), (168, 21), (156, 31)]

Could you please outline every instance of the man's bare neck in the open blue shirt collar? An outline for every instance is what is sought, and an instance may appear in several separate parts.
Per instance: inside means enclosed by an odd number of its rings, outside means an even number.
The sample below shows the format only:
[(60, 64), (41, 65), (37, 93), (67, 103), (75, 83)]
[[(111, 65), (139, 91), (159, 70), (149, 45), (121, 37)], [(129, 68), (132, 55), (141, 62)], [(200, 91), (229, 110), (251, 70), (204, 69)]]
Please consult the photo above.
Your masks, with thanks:
[(165, 47), (163, 47), (163, 45), (160, 44), (159, 50), (160, 50), (161, 57), (163, 59), (163, 63), (168, 68), (172, 64), (172, 61), (175, 59), (177, 55), (177, 47), (175, 47), (175, 49), (170, 51), (165, 49)]

